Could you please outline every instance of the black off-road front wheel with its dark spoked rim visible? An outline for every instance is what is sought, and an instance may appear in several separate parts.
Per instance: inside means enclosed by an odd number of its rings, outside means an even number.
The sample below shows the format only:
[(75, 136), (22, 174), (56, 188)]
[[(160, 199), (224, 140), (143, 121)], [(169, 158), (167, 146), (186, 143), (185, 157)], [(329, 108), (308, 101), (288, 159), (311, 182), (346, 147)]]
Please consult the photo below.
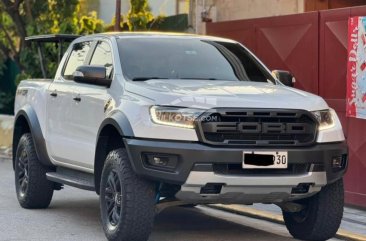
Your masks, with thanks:
[[(113, 205), (116, 215), (108, 216), (108, 206)], [(155, 216), (155, 185), (134, 173), (123, 148), (111, 151), (106, 158), (100, 183), (100, 209), (108, 240), (148, 240)]]

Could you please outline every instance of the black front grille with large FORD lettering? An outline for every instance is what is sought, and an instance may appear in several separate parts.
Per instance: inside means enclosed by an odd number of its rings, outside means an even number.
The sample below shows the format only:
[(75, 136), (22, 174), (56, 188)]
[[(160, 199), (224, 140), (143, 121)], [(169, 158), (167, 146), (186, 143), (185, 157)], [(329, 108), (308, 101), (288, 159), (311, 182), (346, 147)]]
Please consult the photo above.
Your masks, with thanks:
[(211, 145), (306, 146), (315, 142), (317, 122), (304, 110), (220, 108), (204, 113), (196, 130)]

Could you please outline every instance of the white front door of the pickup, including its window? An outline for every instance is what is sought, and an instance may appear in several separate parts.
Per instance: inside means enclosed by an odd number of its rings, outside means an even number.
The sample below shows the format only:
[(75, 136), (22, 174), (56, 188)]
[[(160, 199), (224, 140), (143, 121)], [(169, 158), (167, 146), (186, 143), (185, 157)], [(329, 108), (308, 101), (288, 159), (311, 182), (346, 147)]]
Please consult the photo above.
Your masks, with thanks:
[[(106, 67), (107, 78), (113, 78), (113, 60), (110, 43), (96, 43), (89, 65)], [(109, 89), (104, 86), (76, 83), (71, 106), (70, 133), (75, 146), (70, 158), (86, 168), (93, 169), (97, 134), (105, 118), (105, 105), (110, 100)]]

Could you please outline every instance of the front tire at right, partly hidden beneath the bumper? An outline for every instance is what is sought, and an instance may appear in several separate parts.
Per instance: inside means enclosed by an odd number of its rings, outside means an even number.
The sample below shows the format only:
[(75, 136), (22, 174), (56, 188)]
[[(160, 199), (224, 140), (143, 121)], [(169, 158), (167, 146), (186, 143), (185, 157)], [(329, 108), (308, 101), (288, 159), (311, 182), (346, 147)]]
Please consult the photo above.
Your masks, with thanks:
[(323, 187), (316, 195), (298, 203), (306, 208), (297, 213), (283, 211), (286, 227), (294, 238), (328, 240), (334, 237), (343, 216), (343, 179)]

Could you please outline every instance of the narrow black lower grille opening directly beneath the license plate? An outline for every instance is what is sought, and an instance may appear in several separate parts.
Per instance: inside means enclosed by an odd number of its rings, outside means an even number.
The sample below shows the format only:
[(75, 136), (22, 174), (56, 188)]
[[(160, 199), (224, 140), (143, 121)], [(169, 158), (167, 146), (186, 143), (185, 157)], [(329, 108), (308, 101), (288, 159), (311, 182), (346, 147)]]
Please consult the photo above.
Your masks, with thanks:
[(243, 169), (241, 163), (233, 164), (213, 164), (216, 174), (222, 175), (301, 175), (309, 172), (310, 164), (288, 164), (286, 169)]

